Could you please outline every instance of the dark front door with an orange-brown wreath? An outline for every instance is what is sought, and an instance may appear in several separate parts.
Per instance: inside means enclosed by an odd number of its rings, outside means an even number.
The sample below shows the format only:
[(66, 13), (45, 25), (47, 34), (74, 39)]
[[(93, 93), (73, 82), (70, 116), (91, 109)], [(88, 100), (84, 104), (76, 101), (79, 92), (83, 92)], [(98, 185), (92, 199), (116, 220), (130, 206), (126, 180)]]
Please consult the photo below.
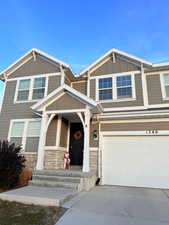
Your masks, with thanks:
[(83, 164), (83, 145), (84, 133), (81, 123), (72, 123), (70, 126), (70, 164), (82, 165)]

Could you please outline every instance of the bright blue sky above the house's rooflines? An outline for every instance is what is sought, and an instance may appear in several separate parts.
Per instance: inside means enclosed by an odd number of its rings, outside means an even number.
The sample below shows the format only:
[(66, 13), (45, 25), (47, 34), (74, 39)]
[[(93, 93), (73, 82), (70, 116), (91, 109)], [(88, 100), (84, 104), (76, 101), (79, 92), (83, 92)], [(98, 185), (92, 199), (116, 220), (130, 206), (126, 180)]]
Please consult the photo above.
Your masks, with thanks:
[[(76, 73), (113, 47), (153, 62), (169, 61), (169, 1), (161, 3), (2, 1), (0, 70), (33, 47), (71, 64)], [(0, 96), (2, 89), (0, 83)]]

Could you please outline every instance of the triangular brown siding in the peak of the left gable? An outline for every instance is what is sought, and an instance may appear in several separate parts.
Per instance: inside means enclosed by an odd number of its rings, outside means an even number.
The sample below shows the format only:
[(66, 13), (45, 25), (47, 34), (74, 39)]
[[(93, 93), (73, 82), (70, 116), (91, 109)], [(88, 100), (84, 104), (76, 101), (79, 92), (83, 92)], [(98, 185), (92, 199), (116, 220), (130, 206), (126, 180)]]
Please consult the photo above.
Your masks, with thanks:
[(55, 73), (59, 72), (57, 66), (49, 63), (40, 56), (36, 57), (36, 61), (30, 59), (27, 63), (23, 64), (19, 69), (14, 71), (9, 78), (30, 76), (36, 74)]

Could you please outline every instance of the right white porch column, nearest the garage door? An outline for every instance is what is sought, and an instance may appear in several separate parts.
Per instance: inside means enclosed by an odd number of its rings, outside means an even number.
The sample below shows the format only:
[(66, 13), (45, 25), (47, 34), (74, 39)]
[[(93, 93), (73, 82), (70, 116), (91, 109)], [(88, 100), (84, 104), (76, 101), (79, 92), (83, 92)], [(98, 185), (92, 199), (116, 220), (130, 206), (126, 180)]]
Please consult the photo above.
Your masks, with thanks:
[(90, 172), (90, 159), (89, 159), (90, 117), (91, 113), (89, 108), (87, 107), (85, 112), (85, 124), (84, 124), (83, 172)]

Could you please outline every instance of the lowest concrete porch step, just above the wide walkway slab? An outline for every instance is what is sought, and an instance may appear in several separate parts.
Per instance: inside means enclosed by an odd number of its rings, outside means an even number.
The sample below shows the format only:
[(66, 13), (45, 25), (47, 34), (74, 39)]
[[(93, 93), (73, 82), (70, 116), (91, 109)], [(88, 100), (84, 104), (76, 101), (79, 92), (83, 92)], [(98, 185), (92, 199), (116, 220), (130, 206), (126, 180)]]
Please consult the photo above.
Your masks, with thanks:
[(37, 187), (57, 187), (57, 188), (68, 188), (72, 190), (78, 189), (78, 184), (66, 183), (66, 182), (54, 182), (54, 181), (44, 181), (44, 180), (32, 180), (29, 182), (31, 186)]

